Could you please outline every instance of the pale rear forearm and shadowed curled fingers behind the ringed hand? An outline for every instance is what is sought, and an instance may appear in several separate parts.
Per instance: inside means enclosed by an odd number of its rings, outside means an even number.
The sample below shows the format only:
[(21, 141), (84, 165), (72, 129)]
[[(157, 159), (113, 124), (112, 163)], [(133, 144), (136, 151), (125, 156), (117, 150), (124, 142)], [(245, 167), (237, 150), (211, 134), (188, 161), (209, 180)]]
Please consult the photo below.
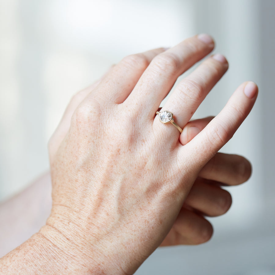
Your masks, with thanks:
[[(190, 141), (213, 117), (187, 123), (181, 137)], [(69, 125), (68, 125), (69, 128)], [(66, 133), (64, 133), (65, 135)], [(203, 217), (219, 216), (230, 207), (230, 194), (219, 185), (245, 182), (251, 173), (249, 162), (237, 155), (217, 153), (200, 172), (183, 205), (178, 244), (201, 244), (211, 237), (211, 224)], [(203, 178), (205, 177), (205, 178)], [(22, 207), (22, 205), (24, 207)], [(50, 215), (52, 206), (50, 172), (0, 205), (0, 257), (35, 234)], [(203, 214), (203, 215), (200, 215)], [(173, 233), (170, 236), (173, 238)], [(175, 244), (167, 236), (161, 245)]]

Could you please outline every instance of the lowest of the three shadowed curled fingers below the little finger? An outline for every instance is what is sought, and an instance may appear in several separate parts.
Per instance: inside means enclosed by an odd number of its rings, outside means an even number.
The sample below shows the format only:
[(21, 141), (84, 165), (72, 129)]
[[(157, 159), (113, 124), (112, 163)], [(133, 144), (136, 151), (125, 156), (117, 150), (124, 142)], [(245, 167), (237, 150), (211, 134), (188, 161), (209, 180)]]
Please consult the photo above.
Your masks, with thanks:
[(201, 215), (182, 208), (161, 246), (194, 245), (207, 242), (213, 234), (213, 227)]

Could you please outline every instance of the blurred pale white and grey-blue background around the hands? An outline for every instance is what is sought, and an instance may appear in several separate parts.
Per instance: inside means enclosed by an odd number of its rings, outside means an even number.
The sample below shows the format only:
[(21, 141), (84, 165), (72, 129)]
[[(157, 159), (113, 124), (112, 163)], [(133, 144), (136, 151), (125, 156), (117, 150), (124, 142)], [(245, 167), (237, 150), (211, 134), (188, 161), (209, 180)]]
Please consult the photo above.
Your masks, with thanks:
[(229, 71), (194, 117), (255, 81), (255, 108), (222, 149), (253, 174), (229, 189), (208, 243), (158, 249), (136, 274), (275, 274), (274, 12), (272, 0), (0, 0), (0, 200), (49, 169), (47, 142), (73, 94), (128, 54), (208, 33)]

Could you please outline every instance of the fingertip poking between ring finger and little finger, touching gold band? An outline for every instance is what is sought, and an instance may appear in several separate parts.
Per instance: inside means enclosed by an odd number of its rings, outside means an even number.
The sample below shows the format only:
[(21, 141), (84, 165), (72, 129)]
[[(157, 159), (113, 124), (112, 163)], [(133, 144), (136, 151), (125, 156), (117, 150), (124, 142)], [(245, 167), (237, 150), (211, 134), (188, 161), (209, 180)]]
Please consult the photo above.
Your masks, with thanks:
[(189, 121), (182, 129), (182, 133), (179, 138), (181, 144), (185, 145), (193, 138), (195, 138), (196, 135), (199, 134), (200, 131), (203, 130), (213, 118), (214, 116), (208, 116), (204, 119), (196, 119)]

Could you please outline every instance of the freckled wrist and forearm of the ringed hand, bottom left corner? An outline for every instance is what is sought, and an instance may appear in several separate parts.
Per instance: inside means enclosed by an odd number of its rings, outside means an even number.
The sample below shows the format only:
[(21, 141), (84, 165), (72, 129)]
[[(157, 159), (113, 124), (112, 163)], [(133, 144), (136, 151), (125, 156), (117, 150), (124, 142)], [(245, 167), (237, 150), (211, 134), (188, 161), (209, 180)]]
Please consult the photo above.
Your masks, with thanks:
[[(96, 258), (95, 258), (96, 259)], [(0, 259), (1, 274), (107, 274), (56, 229), (43, 226)]]

